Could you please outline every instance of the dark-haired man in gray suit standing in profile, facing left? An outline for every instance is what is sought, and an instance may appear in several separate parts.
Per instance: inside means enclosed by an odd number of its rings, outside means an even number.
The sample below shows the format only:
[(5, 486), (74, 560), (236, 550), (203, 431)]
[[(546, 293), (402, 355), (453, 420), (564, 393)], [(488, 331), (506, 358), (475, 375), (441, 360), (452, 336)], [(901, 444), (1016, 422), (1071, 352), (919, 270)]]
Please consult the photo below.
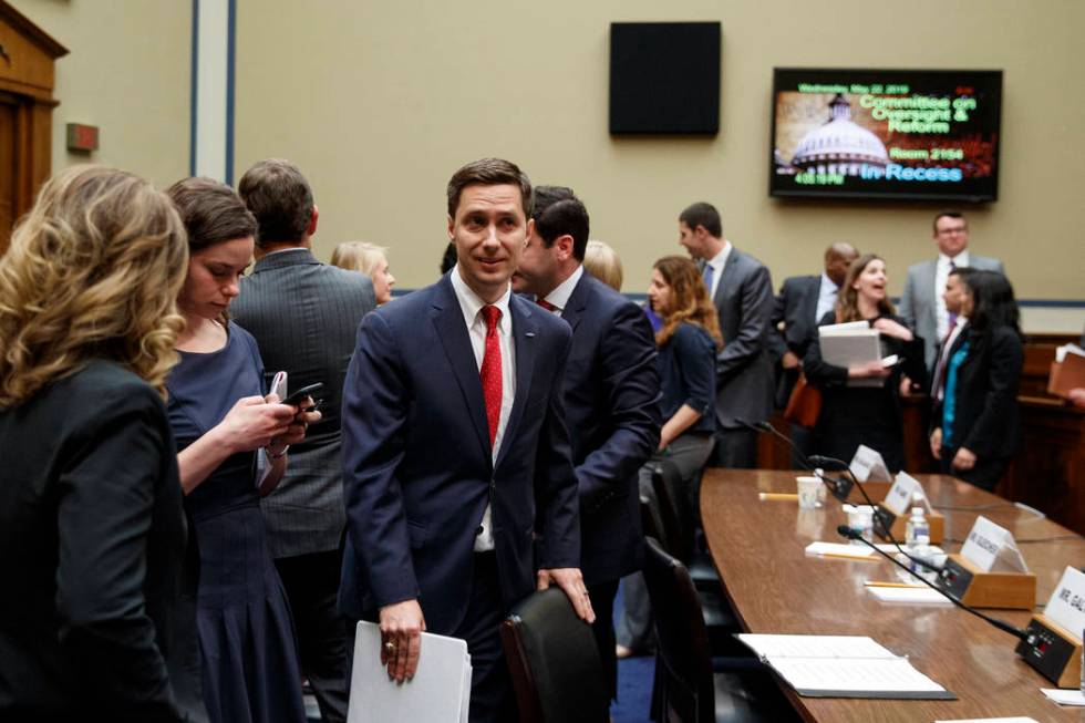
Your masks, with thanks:
[(702, 262), (720, 316), (723, 349), (716, 357), (716, 450), (720, 467), (753, 468), (757, 435), (743, 423), (773, 411), (773, 361), (768, 349), (773, 280), (761, 261), (723, 237), (720, 213), (698, 203), (679, 216), (679, 244)]

